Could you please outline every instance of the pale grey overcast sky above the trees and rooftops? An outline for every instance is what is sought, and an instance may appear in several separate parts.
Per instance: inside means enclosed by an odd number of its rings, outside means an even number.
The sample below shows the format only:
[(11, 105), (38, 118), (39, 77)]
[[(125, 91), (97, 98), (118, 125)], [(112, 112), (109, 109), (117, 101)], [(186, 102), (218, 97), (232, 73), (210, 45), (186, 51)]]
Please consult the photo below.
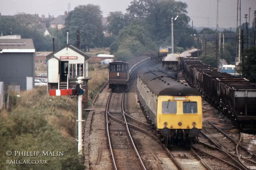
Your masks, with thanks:
[[(17, 12), (29, 14), (42, 14), (48, 16), (64, 15), (68, 11), (68, 3), (71, 10), (77, 5), (95, 4), (100, 5), (103, 16), (107, 17), (109, 12), (123, 11), (132, 0), (1, 0), (0, 12), (2, 15), (14, 15)], [(193, 20), (193, 25), (204, 27), (216, 27), (217, 0), (181, 0), (188, 4), (188, 16)], [(237, 0), (219, 1), (219, 27), (236, 27)], [(251, 23), (253, 12), (256, 10), (256, 0), (241, 0), (241, 23), (245, 22), (244, 14), (249, 14), (251, 7)], [(190, 23), (191, 25), (191, 23)], [(239, 22), (238, 22), (239, 25)], [(251, 24), (252, 25), (252, 24)]]

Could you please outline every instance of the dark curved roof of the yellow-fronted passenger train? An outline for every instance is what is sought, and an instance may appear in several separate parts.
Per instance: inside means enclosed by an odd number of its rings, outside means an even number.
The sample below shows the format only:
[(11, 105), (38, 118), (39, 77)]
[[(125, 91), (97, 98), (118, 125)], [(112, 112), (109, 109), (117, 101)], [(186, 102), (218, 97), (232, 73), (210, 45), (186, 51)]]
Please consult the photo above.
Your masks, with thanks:
[(157, 96), (179, 96), (179, 92), (181, 92), (181, 96), (201, 96), (201, 93), (196, 89), (173, 80), (174, 78), (168, 77), (156, 67), (140, 69), (138, 76)]

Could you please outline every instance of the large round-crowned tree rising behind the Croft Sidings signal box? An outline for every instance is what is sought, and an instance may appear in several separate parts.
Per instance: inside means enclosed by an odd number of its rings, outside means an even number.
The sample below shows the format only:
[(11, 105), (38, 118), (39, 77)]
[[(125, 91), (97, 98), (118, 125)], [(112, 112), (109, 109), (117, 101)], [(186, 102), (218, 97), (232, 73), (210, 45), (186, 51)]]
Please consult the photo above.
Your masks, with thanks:
[(68, 14), (65, 32), (69, 33), (70, 44), (76, 44), (76, 30), (80, 30), (81, 48), (101, 46), (103, 39), (102, 11), (99, 5), (79, 5)]

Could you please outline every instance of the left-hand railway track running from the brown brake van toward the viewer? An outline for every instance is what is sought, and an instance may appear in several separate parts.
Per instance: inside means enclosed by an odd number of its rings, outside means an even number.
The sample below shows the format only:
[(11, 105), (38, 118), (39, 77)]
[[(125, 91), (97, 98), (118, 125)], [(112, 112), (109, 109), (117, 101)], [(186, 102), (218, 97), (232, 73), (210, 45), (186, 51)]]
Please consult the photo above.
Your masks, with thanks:
[[(114, 100), (113, 100), (114, 99)], [(121, 103), (120, 103), (121, 101)], [(140, 154), (132, 139), (126, 118), (123, 112), (124, 92), (110, 93), (106, 106), (106, 131), (109, 149), (115, 169), (144, 169), (146, 167), (140, 158)], [(113, 110), (113, 111), (112, 111)], [(108, 115), (116, 119), (124, 119), (125, 127), (119, 122), (109, 121)], [(117, 112), (114, 112), (117, 111)], [(119, 111), (119, 112), (118, 112)], [(120, 113), (121, 112), (121, 113)], [(109, 126), (111, 124), (111, 126)], [(125, 131), (126, 129), (126, 131)], [(134, 153), (135, 151), (135, 153)], [(139, 159), (139, 160), (138, 160)]]

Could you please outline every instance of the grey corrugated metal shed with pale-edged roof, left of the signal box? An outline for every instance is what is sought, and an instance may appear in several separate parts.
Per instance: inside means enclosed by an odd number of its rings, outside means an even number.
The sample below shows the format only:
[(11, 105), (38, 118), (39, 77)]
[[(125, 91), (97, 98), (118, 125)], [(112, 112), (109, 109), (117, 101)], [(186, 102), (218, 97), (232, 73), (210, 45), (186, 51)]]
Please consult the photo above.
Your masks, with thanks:
[(35, 87), (35, 47), (32, 39), (0, 39), (0, 81), (20, 85), (21, 90)]

